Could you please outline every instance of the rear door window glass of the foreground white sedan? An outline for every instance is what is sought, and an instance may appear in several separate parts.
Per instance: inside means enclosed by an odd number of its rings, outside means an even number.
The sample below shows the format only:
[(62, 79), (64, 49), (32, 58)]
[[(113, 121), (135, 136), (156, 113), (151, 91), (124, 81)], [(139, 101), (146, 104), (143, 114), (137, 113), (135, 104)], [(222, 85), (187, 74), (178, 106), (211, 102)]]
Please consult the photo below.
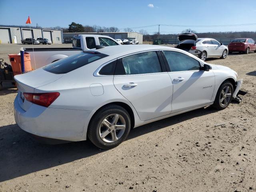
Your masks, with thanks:
[[(117, 72), (117, 73), (116, 73)], [(162, 72), (162, 68), (155, 51), (138, 53), (122, 58), (118, 62), (115, 74), (147, 74)]]

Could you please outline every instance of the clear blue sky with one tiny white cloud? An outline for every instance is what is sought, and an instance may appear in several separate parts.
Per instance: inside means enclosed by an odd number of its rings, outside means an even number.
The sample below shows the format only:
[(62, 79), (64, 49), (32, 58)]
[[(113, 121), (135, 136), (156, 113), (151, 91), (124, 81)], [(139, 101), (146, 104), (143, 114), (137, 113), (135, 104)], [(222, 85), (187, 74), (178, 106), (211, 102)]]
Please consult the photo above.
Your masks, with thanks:
[[(158, 32), (158, 24), (161, 34), (188, 28), (196, 32), (256, 31), (256, 0), (0, 0), (0, 9), (2, 25), (26, 25), (30, 16), (32, 26), (44, 28), (76, 22), (115, 26), (120, 31), (143, 29), (149, 34)], [(226, 26), (236, 24), (252, 25)]]

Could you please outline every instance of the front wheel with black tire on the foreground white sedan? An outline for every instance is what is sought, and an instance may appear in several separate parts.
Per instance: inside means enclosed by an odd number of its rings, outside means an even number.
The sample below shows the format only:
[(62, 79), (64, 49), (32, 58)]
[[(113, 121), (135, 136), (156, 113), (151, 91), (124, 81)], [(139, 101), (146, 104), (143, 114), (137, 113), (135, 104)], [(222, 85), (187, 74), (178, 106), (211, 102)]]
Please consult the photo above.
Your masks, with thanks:
[(216, 94), (214, 108), (218, 110), (225, 109), (231, 102), (233, 97), (233, 85), (230, 81), (224, 81)]

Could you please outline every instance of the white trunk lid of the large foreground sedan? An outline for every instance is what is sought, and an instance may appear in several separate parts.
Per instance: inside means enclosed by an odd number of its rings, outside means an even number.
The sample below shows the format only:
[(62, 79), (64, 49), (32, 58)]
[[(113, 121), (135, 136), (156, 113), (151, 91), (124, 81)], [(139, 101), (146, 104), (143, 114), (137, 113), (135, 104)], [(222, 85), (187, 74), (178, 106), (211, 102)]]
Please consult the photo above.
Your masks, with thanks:
[(18, 102), (20, 107), (27, 111), (32, 105), (31, 102), (24, 99), (24, 92), (34, 93), (35, 88), (44, 86), (60, 79), (64, 74), (54, 74), (43, 70), (42, 68), (14, 76), (18, 87)]

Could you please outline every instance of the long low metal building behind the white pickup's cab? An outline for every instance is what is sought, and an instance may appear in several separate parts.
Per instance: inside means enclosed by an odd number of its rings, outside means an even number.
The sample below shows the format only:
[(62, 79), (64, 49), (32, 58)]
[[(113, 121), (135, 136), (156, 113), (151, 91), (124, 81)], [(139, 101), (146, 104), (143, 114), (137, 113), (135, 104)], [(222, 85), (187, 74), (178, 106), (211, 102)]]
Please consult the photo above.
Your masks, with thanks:
[(102, 33), (63, 33), (64, 42), (70, 42), (73, 36), (78, 34), (96, 34), (96, 35), (106, 35), (113, 39), (136, 39), (139, 44), (143, 43), (143, 35), (138, 32), (102, 32)]

